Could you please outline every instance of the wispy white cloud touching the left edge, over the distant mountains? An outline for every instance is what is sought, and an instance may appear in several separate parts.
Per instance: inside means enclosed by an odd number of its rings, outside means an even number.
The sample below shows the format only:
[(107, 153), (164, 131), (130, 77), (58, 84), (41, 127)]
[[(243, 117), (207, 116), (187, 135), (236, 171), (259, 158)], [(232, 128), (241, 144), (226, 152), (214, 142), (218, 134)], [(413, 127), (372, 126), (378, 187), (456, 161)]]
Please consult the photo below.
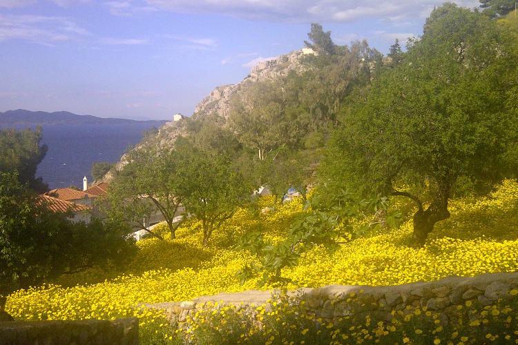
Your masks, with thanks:
[(56, 41), (79, 39), (90, 34), (65, 17), (0, 14), (0, 41), (22, 39), (49, 45)]

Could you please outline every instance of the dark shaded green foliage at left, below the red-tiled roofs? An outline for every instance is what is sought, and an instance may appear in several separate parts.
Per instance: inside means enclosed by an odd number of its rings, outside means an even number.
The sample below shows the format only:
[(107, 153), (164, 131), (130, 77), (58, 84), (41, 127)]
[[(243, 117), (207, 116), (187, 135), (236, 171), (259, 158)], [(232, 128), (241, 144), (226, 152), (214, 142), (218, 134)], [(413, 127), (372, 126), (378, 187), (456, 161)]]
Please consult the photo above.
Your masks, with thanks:
[(0, 293), (108, 261), (121, 263), (131, 243), (100, 221), (73, 224), (0, 172)]

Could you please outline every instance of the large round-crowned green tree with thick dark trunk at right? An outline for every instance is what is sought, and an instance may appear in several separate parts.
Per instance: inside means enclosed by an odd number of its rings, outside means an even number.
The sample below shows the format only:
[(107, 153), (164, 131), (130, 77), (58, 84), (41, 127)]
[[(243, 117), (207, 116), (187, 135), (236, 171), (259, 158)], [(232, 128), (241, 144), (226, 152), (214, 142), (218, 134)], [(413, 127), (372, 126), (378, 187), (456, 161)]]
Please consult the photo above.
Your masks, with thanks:
[(413, 243), (423, 244), (449, 217), (457, 178), (499, 181), (509, 171), (504, 154), (516, 136), (502, 100), (516, 60), (495, 22), (450, 4), (432, 12), (404, 61), (345, 112), (322, 173), (361, 195), (410, 197)]

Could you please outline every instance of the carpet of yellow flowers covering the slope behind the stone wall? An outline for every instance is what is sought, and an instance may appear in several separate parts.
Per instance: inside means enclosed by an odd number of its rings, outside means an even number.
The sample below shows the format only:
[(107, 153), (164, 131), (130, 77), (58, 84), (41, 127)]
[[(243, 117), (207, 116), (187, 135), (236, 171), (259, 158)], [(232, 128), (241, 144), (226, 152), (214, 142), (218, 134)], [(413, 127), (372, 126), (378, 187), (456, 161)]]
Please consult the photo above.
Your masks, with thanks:
[[(449, 275), (518, 271), (517, 181), (503, 181), (488, 197), (454, 200), (450, 210), (450, 219), (437, 224), (424, 248), (405, 246), (412, 233), (410, 219), (397, 229), (378, 230), (341, 244), (333, 253), (316, 247), (298, 266), (283, 271), (293, 280), (286, 288), (394, 285)], [(241, 285), (236, 276), (246, 262), (256, 260), (236, 250), (236, 240), (258, 227), (267, 237), (281, 239), (290, 219), (300, 212), (300, 200), (267, 214), (242, 209), (213, 234), (207, 247), (201, 246), (200, 224), (189, 221), (177, 231), (177, 239), (138, 242), (138, 254), (126, 272), (99, 268), (18, 290), (8, 296), (6, 309), (16, 319), (28, 320), (139, 317), (142, 339), (174, 341), (175, 331), (163, 315), (138, 304), (256, 288), (256, 281)]]

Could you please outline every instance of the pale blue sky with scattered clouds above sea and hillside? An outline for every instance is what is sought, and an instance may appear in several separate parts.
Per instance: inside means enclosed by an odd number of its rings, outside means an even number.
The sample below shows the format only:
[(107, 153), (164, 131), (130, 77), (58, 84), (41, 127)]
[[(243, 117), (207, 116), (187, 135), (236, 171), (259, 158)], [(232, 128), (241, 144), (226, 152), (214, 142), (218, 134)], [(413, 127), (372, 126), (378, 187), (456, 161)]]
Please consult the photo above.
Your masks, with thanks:
[[(192, 115), (216, 86), (304, 47), (310, 24), (336, 44), (386, 54), (419, 37), (443, 0), (0, 0), (0, 112)], [(474, 8), (477, 0), (459, 0)]]

